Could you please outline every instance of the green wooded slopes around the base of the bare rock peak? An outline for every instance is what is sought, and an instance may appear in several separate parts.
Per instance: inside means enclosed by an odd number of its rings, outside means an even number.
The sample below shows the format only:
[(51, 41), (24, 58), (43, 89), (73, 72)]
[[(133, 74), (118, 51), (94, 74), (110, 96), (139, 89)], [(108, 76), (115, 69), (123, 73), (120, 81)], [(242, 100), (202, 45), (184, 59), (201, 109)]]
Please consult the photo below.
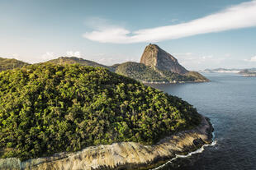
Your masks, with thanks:
[(181, 75), (172, 71), (160, 71), (156, 67), (148, 67), (138, 62), (124, 62), (119, 65), (114, 65), (114, 67), (118, 74), (146, 82), (207, 80), (206, 77), (194, 71), (189, 71), (185, 75)]

